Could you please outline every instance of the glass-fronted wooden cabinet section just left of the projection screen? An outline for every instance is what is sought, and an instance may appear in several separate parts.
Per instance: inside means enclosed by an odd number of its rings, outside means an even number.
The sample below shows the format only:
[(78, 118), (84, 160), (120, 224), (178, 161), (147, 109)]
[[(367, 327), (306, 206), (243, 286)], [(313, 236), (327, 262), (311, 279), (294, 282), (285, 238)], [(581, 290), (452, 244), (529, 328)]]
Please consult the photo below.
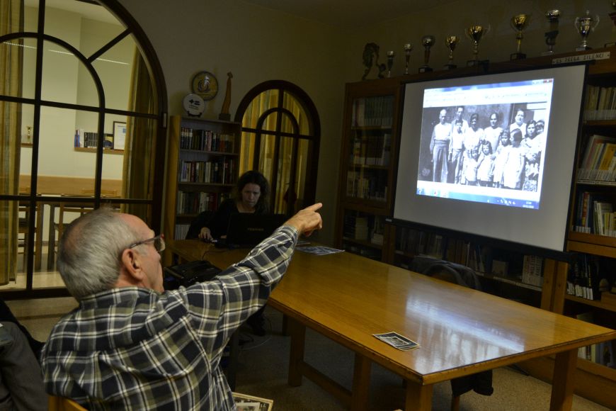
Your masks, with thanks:
[(346, 85), (336, 247), (384, 261), (392, 207), (400, 78)]

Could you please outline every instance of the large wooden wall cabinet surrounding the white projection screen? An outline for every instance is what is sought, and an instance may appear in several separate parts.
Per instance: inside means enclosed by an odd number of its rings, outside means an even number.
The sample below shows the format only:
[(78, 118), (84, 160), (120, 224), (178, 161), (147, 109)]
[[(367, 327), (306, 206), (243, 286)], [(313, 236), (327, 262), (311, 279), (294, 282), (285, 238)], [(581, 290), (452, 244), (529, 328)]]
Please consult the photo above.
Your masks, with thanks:
[[(586, 147), (593, 142), (593, 135), (601, 135), (608, 137), (607, 142), (616, 143), (616, 53), (614, 49), (597, 49), (586, 52), (571, 52), (558, 56), (550, 57), (535, 57), (525, 59), (519, 62), (502, 62), (494, 63), (489, 67), (490, 72), (498, 72), (512, 69), (527, 69), (528, 67), (542, 67), (553, 64), (555, 57), (571, 57), (582, 54), (598, 53), (602, 60), (596, 60), (594, 64), (588, 67), (588, 78), (586, 81), (586, 101), (585, 120), (581, 128), (581, 138), (579, 139), (578, 159), (576, 163), (577, 169), (588, 168), (584, 164), (584, 155)], [(608, 58), (604, 58), (608, 57)], [(372, 81), (363, 81), (361, 83), (347, 84), (346, 86), (346, 106), (343, 130), (343, 142), (341, 151), (341, 175), (339, 181), (339, 201), (338, 201), (338, 220), (336, 227), (336, 242), (337, 246), (346, 249), (350, 252), (367, 255), (375, 259), (404, 266), (408, 264), (413, 255), (417, 253), (429, 254), (429, 249), (433, 244), (440, 251), (438, 257), (445, 257), (456, 262), (469, 261), (472, 257), (471, 253), (474, 250), (473, 243), (469, 243), (469, 239), (463, 237), (447, 238), (444, 235), (439, 236), (424, 232), (426, 236), (425, 242), (410, 244), (409, 236), (418, 236), (418, 232), (411, 233), (411, 229), (407, 227), (397, 227), (396, 225), (387, 224), (386, 217), (389, 216), (392, 210), (392, 190), (395, 181), (394, 169), (397, 163), (397, 145), (398, 139), (398, 123), (401, 104), (399, 102), (399, 93), (401, 83), (403, 81), (416, 81), (421, 79), (444, 78), (456, 75), (472, 74), (472, 68), (462, 67), (461, 69), (451, 70), (450, 72), (433, 72), (428, 74), (411, 74), (404, 77), (394, 79), (380, 79)], [(598, 97), (597, 103), (593, 105), (593, 100), (588, 103), (592, 88), (605, 89), (603, 100)], [(392, 122), (384, 120), (384, 111), (377, 110), (377, 123), (361, 123), (361, 118), (366, 118), (365, 109), (372, 107), (371, 101), (391, 101), (394, 108), (392, 113)], [(605, 106), (597, 107), (598, 101), (602, 101)], [(614, 101), (610, 106), (610, 101)], [(378, 105), (377, 105), (378, 106)], [(363, 111), (363, 117), (360, 113)], [(594, 113), (593, 113), (594, 111)], [(372, 116), (368, 116), (372, 119)], [(384, 137), (391, 133), (391, 148), (387, 155), (384, 155), (384, 149), (377, 148), (373, 154), (371, 147), (380, 147), (380, 140), (385, 141), (389, 137)], [(379, 141), (373, 145), (373, 140)], [(595, 139), (596, 140), (596, 139)], [(383, 144), (384, 146), (384, 144)], [(605, 150), (604, 150), (605, 152)], [(615, 150), (616, 152), (616, 150)], [(372, 153), (372, 154), (367, 154)], [(607, 156), (607, 157), (606, 157)], [(377, 158), (389, 158), (389, 162), (377, 164)], [(601, 159), (599, 153), (595, 153), (595, 159)], [(604, 154), (605, 158), (609, 154)], [(616, 157), (614, 157), (616, 158)], [(601, 162), (597, 160), (600, 167)], [(616, 161), (616, 160), (615, 160)], [(583, 201), (580, 201), (585, 191), (595, 195), (596, 199), (600, 199), (605, 203), (612, 205), (612, 210), (616, 211), (616, 172), (609, 174), (610, 166), (605, 159), (603, 167), (608, 167), (607, 171), (603, 169), (603, 174), (595, 173), (601, 178), (588, 178), (588, 171), (578, 171), (578, 178), (574, 182), (574, 195), (570, 204), (571, 215), (571, 231), (567, 239), (567, 251), (577, 259), (586, 259), (586, 261), (594, 261), (593, 264), (597, 267), (595, 274), (598, 278), (606, 277), (611, 281), (610, 286), (615, 287), (616, 284), (616, 237), (610, 237), (608, 220), (605, 220), (605, 225), (608, 227), (603, 235), (598, 234), (596, 230), (590, 232), (581, 232), (576, 230), (576, 225), (579, 225), (578, 215), (579, 207), (583, 206)], [(607, 176), (607, 177), (606, 177)], [(592, 198), (592, 197), (591, 197)], [(582, 204), (582, 205), (581, 205)], [(587, 216), (593, 218), (593, 206), (586, 205), (588, 208)], [(609, 206), (606, 206), (609, 209)], [(613, 227), (613, 231), (616, 227)], [(382, 232), (382, 237), (380, 236)], [(376, 236), (375, 236), (376, 234)], [(607, 234), (607, 235), (606, 235)], [(428, 238), (429, 237), (429, 238)], [(488, 244), (491, 245), (491, 244)], [(490, 264), (494, 268), (496, 260), (505, 260), (506, 257), (498, 255), (498, 251), (492, 250), (489, 253), (489, 259), (477, 261), (482, 252), (477, 249), (475, 259), (476, 264)], [(505, 252), (507, 253), (507, 252)], [(511, 253), (510, 253), (511, 254)], [(518, 253), (519, 254), (519, 253)], [(502, 257), (502, 258), (501, 258)], [(514, 256), (515, 264), (522, 265), (523, 254)], [(509, 271), (512, 274), (513, 269), (510, 260)], [(571, 270), (574, 269), (573, 264), (564, 261), (555, 261), (552, 259), (544, 259), (542, 264), (542, 286), (528, 286), (523, 281), (515, 281), (511, 278), (503, 278), (487, 274), (484, 277), (493, 283), (500, 283), (499, 287), (510, 287), (514, 293), (524, 293), (525, 298), (532, 300), (532, 305), (551, 310), (554, 313), (561, 313), (571, 317), (578, 317), (582, 320), (591, 320), (605, 327), (616, 329), (616, 302), (613, 297), (616, 294), (610, 294), (605, 291), (606, 296), (612, 297), (607, 300), (595, 295), (595, 300), (583, 298), (581, 296), (572, 295), (567, 292), (568, 281), (571, 283)], [(486, 271), (493, 271), (488, 270)], [(571, 288), (571, 286), (569, 286)], [(510, 291), (512, 291), (510, 290)], [(587, 296), (588, 297), (588, 296)], [(525, 300), (525, 298), (515, 299)], [(606, 348), (607, 347), (607, 348)], [(600, 354), (602, 350), (611, 350), (612, 365), (606, 366), (601, 364)], [(610, 409), (616, 409), (616, 398), (610, 393), (616, 391), (616, 368), (614, 356), (616, 355), (616, 341), (609, 344), (603, 344), (601, 347), (591, 347), (587, 351), (591, 354), (591, 359), (578, 359), (578, 368), (576, 370), (576, 388), (578, 395), (591, 399), (595, 402), (605, 405)], [(583, 356), (583, 350), (580, 356)], [(607, 354), (606, 354), (607, 355)], [(533, 376), (542, 378), (546, 381), (552, 379), (554, 361), (544, 359), (540, 361), (530, 361), (524, 364), (523, 368), (532, 373)]]

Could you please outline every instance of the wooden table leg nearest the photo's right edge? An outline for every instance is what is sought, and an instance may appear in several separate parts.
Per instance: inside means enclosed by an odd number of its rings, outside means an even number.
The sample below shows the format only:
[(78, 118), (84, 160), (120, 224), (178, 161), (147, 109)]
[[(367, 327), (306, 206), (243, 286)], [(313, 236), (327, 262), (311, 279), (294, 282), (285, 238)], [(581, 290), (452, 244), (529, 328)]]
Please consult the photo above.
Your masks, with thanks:
[(552, 377), (552, 400), (549, 403), (550, 411), (571, 410), (574, 400), (574, 374), (578, 350), (570, 349), (556, 354), (554, 376)]

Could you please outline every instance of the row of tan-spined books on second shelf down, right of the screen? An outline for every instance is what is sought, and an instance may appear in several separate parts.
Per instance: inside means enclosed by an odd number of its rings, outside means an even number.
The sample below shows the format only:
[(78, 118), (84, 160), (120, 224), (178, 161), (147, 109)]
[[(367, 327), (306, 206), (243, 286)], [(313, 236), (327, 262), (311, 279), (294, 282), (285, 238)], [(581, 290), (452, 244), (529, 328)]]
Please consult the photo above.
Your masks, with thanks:
[(578, 169), (579, 180), (616, 181), (616, 137), (592, 135)]

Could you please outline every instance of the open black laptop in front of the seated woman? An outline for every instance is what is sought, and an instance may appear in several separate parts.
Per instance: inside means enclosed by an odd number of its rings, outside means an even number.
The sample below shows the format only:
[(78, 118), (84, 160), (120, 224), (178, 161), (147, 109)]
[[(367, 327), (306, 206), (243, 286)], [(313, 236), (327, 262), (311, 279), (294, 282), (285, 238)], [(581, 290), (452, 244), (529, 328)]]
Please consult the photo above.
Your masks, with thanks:
[(232, 248), (254, 247), (269, 237), (286, 220), (284, 214), (232, 214), (229, 218), (227, 238), (222, 240), (223, 244), (217, 245)]

